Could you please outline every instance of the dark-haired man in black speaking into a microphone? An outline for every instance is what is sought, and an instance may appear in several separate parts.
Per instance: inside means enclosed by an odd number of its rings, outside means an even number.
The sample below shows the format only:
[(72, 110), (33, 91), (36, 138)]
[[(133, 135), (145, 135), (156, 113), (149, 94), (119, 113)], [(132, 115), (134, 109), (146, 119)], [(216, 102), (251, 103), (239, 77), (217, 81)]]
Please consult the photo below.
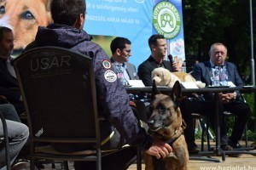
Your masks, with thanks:
[(148, 39), (151, 55), (138, 66), (138, 76), (145, 86), (152, 86), (151, 73), (155, 68), (164, 67), (169, 71), (179, 71), (177, 63), (166, 61), (166, 39), (162, 35), (155, 34)]

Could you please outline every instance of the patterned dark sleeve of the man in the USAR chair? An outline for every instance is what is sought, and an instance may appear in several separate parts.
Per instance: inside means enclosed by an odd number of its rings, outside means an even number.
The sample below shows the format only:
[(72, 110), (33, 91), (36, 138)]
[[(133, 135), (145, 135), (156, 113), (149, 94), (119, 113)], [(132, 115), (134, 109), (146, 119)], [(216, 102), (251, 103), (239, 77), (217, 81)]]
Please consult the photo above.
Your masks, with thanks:
[(128, 144), (148, 149), (152, 145), (152, 138), (139, 126), (122, 83), (118, 79), (110, 81), (104, 76), (106, 71), (112, 70), (106, 70), (102, 66), (103, 59), (108, 59), (108, 55), (102, 49), (96, 50), (93, 62), (99, 111), (124, 135)]

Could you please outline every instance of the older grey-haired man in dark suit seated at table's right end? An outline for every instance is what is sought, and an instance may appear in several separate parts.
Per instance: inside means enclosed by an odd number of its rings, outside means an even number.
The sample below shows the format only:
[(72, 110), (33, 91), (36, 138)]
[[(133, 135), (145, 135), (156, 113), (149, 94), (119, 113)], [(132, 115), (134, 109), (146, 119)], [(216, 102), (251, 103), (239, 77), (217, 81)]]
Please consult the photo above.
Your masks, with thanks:
[[(243, 82), (241, 77), (236, 70), (236, 65), (226, 62), (227, 48), (223, 43), (212, 44), (209, 51), (210, 60), (204, 63), (198, 63), (194, 66), (193, 77), (197, 81), (205, 82), (207, 86), (212, 85), (210, 79), (210, 72), (215, 71), (216, 66), (220, 70), (224, 67), (227, 71), (228, 81), (233, 82), (236, 86), (242, 86)], [(251, 115), (252, 111), (249, 106), (240, 98), (239, 92), (218, 94), (220, 99), (219, 104), (219, 115), (220, 115), (220, 146), (223, 150), (233, 150), (233, 148), (240, 147), (238, 140), (241, 139), (242, 132), (246, 123)], [(182, 106), (183, 119), (187, 122), (187, 128), (184, 131), (187, 144), (190, 149), (197, 147), (195, 144), (195, 134), (193, 130), (193, 125), (190, 120), (192, 120), (191, 113), (199, 113), (201, 115), (210, 116), (212, 120), (212, 125), (214, 124), (214, 114), (215, 106), (213, 105), (212, 94), (204, 95), (205, 101), (190, 101), (187, 105)], [(224, 111), (229, 111), (236, 115), (236, 122), (234, 124), (232, 134), (228, 138), (226, 135), (226, 127), (224, 122)]]

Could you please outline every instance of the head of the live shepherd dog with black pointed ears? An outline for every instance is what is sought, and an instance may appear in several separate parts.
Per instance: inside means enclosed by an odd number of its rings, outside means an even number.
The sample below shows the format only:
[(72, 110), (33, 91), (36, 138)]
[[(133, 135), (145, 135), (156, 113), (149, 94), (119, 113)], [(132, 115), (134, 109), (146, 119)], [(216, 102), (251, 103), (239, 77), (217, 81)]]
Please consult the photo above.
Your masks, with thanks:
[(170, 96), (160, 94), (160, 91), (156, 88), (153, 81), (152, 100), (150, 105), (152, 115), (148, 120), (148, 127), (154, 135), (158, 136), (158, 138), (163, 140), (172, 139), (177, 133), (177, 129), (182, 127), (183, 131), (185, 128), (182, 114), (179, 109), (181, 100), (182, 90), (178, 81), (175, 82)]

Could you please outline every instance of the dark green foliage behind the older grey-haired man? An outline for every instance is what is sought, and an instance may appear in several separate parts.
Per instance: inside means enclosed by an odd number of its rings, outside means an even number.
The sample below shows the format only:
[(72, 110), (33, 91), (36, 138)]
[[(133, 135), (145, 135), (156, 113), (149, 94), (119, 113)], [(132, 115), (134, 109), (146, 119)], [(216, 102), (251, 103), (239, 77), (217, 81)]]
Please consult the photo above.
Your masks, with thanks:
[[(255, 58), (256, 1), (252, 2)], [(208, 51), (212, 43), (223, 42), (228, 47), (228, 60), (237, 65), (245, 84), (251, 83), (249, 0), (183, 0), (183, 27), (187, 71), (193, 69), (195, 60), (202, 62), (209, 59)], [(248, 127), (255, 136), (255, 94), (244, 96), (253, 110)]]

